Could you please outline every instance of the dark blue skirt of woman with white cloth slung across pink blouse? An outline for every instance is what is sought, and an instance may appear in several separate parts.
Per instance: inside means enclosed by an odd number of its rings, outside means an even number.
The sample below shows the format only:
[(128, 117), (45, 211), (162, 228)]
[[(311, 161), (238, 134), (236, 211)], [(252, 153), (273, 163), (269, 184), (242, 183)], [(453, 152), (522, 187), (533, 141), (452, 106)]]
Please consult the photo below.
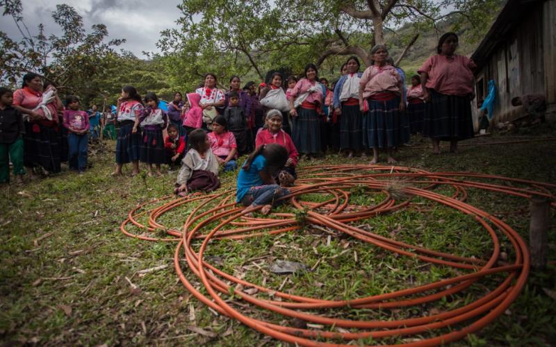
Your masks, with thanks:
[(297, 108), (297, 117), (293, 117), (292, 121), (292, 139), (297, 151), (303, 154), (320, 153), (320, 123), (317, 111)]

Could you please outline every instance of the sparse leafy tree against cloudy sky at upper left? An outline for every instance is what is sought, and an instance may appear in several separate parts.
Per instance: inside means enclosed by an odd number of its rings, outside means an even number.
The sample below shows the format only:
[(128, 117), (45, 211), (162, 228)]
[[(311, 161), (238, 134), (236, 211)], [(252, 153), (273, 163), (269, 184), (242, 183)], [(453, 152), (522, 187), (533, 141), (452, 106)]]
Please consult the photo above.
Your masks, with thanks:
[(22, 39), (12, 40), (0, 32), (0, 79), (15, 85), (22, 74), (34, 72), (60, 90), (83, 95), (100, 92), (95, 81), (106, 76), (107, 56), (124, 40), (104, 42), (108, 30), (104, 24), (95, 24), (91, 32), (83, 28), (83, 17), (71, 6), (56, 5), (52, 12), (54, 22), (62, 28), (62, 35), (44, 33), (43, 24), (31, 34), (22, 17), (20, 0), (1, 0), (3, 16), (12, 17)]

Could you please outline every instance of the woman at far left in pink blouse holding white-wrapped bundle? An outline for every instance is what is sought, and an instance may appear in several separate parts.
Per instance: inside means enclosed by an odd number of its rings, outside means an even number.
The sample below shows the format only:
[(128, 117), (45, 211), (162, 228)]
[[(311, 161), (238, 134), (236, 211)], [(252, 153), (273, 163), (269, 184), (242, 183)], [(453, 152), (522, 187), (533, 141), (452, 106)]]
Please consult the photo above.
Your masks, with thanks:
[(13, 93), (13, 107), (29, 116), (24, 135), (27, 172), (33, 177), (33, 167), (37, 166), (47, 174), (60, 172), (58, 110), (63, 105), (54, 85), (49, 85), (43, 94), (40, 76), (32, 72), (25, 74), (22, 89)]

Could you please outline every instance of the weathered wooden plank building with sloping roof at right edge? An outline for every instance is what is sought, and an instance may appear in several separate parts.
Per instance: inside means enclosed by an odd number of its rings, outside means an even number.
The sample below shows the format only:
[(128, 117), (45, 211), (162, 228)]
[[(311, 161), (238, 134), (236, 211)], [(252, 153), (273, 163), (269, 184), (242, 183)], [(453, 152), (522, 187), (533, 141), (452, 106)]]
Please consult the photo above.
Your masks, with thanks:
[(546, 118), (556, 119), (556, 0), (508, 0), (471, 58), (477, 63), (473, 102), (496, 83), (493, 124), (523, 115), (512, 98), (524, 94), (546, 97)]

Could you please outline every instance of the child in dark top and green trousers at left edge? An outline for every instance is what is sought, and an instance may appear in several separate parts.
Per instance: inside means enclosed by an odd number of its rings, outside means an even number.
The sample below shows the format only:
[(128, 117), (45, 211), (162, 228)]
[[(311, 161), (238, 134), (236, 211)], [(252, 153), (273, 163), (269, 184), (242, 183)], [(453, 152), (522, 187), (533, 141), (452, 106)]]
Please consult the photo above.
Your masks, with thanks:
[[(10, 160), (16, 183), (23, 183), (23, 137), (25, 126), (22, 112), (12, 107), (13, 92), (0, 88), (0, 183), (10, 182)], [(9, 157), (9, 158), (8, 158)]]

